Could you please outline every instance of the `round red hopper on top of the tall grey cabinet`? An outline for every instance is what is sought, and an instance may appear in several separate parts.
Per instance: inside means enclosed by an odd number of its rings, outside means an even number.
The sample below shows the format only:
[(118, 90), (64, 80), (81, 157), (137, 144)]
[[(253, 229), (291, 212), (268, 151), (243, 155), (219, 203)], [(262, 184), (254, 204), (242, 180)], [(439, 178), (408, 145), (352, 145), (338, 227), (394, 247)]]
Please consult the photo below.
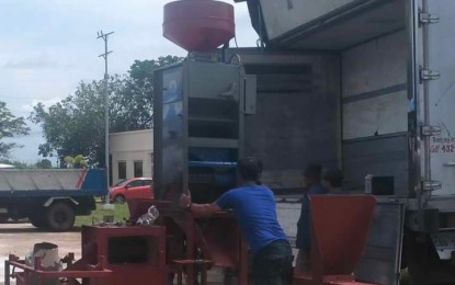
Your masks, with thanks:
[(211, 0), (181, 0), (164, 5), (166, 38), (187, 52), (207, 53), (235, 35), (234, 7)]

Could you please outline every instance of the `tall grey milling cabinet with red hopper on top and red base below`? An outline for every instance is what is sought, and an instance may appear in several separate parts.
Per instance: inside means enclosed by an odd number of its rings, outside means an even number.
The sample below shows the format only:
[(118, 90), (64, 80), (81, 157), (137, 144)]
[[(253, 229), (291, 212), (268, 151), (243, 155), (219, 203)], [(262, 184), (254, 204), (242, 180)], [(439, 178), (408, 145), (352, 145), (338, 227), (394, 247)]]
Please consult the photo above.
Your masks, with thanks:
[[(217, 50), (235, 36), (234, 7), (182, 0), (164, 7), (163, 35), (189, 52), (183, 62), (155, 72), (153, 190), (151, 203), (168, 235), (168, 259), (186, 284), (206, 281), (206, 269), (225, 269), (234, 284), (248, 283), (248, 250), (230, 213), (197, 217), (178, 208), (182, 193), (212, 203), (236, 185), (241, 156), (242, 67)], [(234, 60), (232, 60), (234, 61)], [(161, 201), (161, 202), (159, 202)], [(203, 269), (203, 266), (206, 266)], [(180, 277), (181, 278), (181, 277)], [(179, 280), (180, 282), (181, 280)]]

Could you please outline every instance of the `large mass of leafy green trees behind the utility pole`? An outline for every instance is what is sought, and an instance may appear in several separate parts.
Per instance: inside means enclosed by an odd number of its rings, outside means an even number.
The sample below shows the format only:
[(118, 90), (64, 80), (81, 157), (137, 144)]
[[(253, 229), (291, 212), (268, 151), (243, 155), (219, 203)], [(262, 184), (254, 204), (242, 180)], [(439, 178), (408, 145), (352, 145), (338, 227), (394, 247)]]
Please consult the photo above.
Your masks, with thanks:
[[(146, 129), (152, 126), (153, 70), (182, 58), (167, 56), (136, 60), (127, 75), (109, 79), (110, 132)], [(39, 146), (44, 157), (64, 158), (84, 153), (89, 166), (104, 167), (104, 83), (80, 82), (75, 94), (46, 109), (34, 106), (30, 119), (39, 124), (46, 142)]]

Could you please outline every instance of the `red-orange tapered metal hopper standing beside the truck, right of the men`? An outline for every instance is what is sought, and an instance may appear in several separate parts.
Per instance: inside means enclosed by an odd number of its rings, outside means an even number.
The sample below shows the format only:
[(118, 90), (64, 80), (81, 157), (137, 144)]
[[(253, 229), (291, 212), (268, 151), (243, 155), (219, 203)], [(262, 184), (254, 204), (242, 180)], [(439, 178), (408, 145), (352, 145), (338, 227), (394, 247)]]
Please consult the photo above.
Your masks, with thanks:
[(310, 195), (311, 271), (294, 284), (366, 284), (353, 274), (373, 220), (372, 195)]

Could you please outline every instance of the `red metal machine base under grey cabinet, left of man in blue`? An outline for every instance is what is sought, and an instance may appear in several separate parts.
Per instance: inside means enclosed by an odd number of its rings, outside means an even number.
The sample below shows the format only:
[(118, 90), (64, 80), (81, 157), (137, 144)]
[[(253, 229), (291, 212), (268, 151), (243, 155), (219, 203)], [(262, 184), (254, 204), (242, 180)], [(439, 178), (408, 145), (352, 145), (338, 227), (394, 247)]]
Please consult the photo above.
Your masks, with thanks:
[[(130, 219), (137, 219), (155, 205), (160, 217), (157, 225), (166, 227), (166, 259), (168, 272), (178, 282), (185, 274), (185, 284), (193, 285), (213, 266), (230, 269), (238, 285), (248, 285), (248, 246), (231, 213), (220, 212), (211, 217), (175, 208), (172, 203), (152, 200), (128, 201)], [(202, 283), (205, 284), (205, 283)]]

